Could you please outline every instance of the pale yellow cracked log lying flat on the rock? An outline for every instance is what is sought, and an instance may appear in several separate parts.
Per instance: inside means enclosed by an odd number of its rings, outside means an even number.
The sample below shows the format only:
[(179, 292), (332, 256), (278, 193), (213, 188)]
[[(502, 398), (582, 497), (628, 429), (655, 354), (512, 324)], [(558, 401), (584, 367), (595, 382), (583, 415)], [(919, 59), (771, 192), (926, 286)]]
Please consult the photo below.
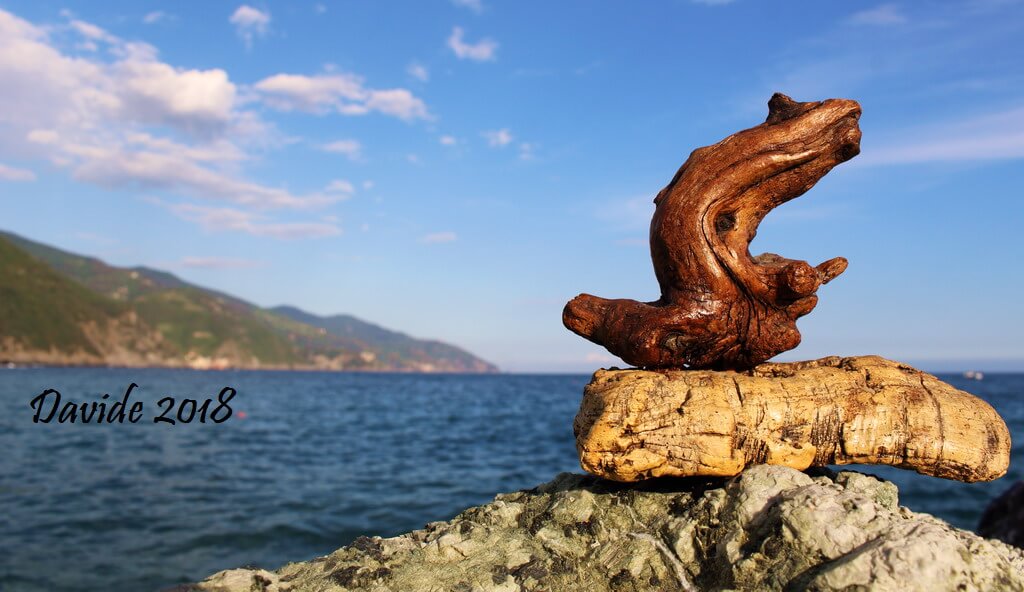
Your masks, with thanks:
[(981, 481), (1010, 464), (991, 406), (878, 356), (741, 373), (599, 370), (573, 429), (583, 468), (617, 481), (852, 463)]

